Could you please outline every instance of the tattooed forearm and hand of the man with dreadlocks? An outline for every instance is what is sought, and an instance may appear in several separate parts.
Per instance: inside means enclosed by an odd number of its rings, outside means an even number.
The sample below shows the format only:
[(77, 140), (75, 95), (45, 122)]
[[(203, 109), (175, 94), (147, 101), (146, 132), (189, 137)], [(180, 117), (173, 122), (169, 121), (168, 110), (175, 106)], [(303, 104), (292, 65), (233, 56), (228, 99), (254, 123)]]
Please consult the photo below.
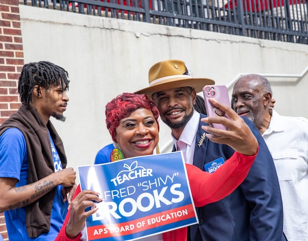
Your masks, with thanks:
[(54, 172), (35, 183), (21, 187), (15, 187), (17, 179), (2, 177), (0, 178), (0, 212), (27, 206), (57, 185), (74, 186), (75, 178), (76, 172), (72, 168)]

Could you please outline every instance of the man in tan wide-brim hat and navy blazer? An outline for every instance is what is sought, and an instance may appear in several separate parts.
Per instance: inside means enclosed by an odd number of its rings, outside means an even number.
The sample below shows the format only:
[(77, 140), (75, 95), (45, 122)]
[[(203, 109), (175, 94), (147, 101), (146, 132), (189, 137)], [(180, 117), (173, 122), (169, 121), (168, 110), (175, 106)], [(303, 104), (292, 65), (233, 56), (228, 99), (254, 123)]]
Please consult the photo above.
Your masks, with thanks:
[[(208, 139), (200, 122), (206, 115), (194, 110), (196, 93), (207, 78), (192, 78), (183, 61), (158, 62), (149, 69), (150, 87), (137, 91), (155, 99), (162, 120), (170, 127), (174, 151), (182, 150), (186, 163), (202, 170), (223, 164), (234, 150)], [(219, 202), (197, 208), (199, 224), (190, 226), (187, 240), (285, 240), (282, 201), (274, 162), (254, 124), (244, 118), (258, 139), (259, 153), (244, 182)], [(219, 139), (219, 138), (218, 138)], [(217, 143), (214, 143), (216, 141)]]

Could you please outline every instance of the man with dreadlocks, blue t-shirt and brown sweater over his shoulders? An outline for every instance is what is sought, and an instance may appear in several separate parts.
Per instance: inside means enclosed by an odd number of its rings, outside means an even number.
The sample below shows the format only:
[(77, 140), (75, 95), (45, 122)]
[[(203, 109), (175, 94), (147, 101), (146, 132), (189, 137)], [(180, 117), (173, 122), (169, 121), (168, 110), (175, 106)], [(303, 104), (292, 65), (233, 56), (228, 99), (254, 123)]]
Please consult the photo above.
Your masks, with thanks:
[(65, 120), (68, 84), (62, 67), (24, 65), (22, 105), (0, 126), (0, 212), (10, 240), (53, 240), (65, 219), (76, 173), (65, 168), (63, 143), (49, 118)]

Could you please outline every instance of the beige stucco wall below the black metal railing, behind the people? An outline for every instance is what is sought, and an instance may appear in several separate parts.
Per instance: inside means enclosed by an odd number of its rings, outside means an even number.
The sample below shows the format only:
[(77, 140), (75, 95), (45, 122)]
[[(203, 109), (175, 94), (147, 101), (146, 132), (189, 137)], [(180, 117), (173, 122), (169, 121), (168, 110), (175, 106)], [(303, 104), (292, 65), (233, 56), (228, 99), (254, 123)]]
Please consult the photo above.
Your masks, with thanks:
[[(183, 59), (195, 77), (230, 85), (239, 73), (300, 74), (308, 46), (20, 5), (25, 63), (50, 61), (70, 74), (65, 123), (53, 120), (63, 138), (68, 166), (92, 164), (111, 142), (104, 111), (111, 98), (148, 86), (149, 67)], [(272, 78), (269, 78), (272, 81)], [(275, 78), (281, 114), (308, 117), (308, 75)], [(278, 81), (278, 82), (277, 82)], [(161, 123), (161, 149), (170, 131)]]

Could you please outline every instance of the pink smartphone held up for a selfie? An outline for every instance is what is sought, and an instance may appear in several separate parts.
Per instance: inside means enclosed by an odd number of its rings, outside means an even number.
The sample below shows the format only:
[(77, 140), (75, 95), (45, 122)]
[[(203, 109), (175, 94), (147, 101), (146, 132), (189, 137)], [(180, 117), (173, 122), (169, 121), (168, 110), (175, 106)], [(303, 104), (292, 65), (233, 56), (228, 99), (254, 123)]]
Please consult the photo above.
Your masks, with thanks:
[[(204, 95), (204, 103), (207, 116), (224, 116), (229, 118), (228, 115), (221, 109), (215, 107), (211, 104), (208, 99), (215, 98), (218, 102), (230, 107), (229, 95), (227, 87), (224, 85), (206, 85), (202, 88)], [(210, 124), (210, 126), (222, 130), (227, 130), (228, 128), (222, 124)]]

